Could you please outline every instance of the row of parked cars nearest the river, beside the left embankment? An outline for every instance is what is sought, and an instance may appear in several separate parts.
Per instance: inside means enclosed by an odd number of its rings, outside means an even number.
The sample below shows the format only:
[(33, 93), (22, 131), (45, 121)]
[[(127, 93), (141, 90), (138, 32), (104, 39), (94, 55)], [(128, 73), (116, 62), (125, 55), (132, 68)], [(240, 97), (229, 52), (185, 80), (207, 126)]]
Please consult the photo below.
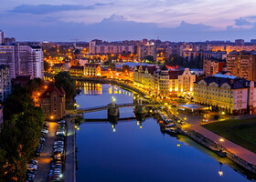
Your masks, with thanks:
[(53, 145), (53, 159), (50, 161), (48, 178), (50, 181), (63, 181), (64, 148), (66, 136), (66, 122), (59, 121), (56, 139)]

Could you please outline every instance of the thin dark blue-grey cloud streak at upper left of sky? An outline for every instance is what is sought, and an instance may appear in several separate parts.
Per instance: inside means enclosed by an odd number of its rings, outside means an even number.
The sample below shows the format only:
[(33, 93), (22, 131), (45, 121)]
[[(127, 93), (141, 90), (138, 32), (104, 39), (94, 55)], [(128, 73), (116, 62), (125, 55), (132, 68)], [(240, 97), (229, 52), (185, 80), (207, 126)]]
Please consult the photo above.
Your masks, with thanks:
[(112, 4), (94, 4), (94, 5), (18, 5), (10, 10), (12, 13), (44, 15), (61, 11), (91, 10), (100, 6)]

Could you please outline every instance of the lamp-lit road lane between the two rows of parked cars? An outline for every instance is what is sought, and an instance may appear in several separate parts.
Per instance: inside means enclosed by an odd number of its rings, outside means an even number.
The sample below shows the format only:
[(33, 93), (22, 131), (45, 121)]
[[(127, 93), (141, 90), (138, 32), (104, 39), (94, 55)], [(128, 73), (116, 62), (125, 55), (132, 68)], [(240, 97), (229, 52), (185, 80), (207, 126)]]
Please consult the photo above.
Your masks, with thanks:
[(55, 141), (55, 132), (58, 129), (58, 123), (49, 122), (48, 137), (45, 141), (45, 147), (41, 153), (41, 157), (35, 158), (38, 162), (36, 182), (48, 181), (48, 172), (50, 160), (52, 159), (52, 147)]

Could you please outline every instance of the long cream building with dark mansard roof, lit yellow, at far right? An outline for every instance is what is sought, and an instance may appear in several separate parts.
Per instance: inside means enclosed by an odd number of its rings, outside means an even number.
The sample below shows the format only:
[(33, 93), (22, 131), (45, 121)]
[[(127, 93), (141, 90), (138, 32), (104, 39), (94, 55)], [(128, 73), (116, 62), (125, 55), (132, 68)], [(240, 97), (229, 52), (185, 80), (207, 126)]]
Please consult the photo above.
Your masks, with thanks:
[(256, 113), (255, 82), (237, 76), (215, 75), (194, 83), (194, 101), (233, 115)]

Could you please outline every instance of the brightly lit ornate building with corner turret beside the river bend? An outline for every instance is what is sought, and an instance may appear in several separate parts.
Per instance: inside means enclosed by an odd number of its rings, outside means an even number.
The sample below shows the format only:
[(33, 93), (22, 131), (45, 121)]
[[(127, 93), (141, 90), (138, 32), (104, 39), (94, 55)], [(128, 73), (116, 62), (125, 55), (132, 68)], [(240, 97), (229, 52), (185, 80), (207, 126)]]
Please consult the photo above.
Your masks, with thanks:
[(165, 66), (159, 69), (155, 66), (135, 66), (134, 82), (144, 86), (153, 96), (167, 98), (170, 96), (193, 95), (193, 83), (196, 75), (189, 68), (183, 70), (168, 70)]

